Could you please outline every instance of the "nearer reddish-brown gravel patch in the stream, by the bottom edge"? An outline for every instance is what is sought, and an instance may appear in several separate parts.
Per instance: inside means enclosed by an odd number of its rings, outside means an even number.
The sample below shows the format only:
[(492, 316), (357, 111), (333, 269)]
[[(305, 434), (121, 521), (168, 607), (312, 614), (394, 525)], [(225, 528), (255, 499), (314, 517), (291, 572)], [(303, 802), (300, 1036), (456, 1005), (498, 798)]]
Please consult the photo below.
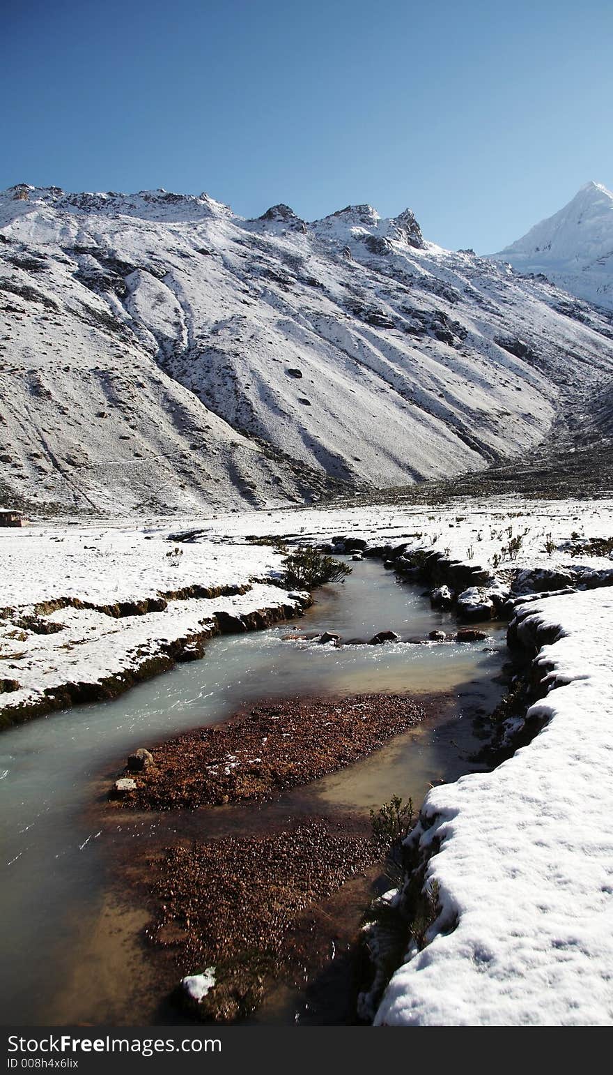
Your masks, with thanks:
[(215, 966), (216, 986), (198, 1014), (232, 1021), (257, 1007), (287, 966), (286, 937), (305, 909), (379, 857), (363, 827), (325, 818), (166, 848), (148, 865), (157, 909), (147, 935), (172, 950), (181, 975)]

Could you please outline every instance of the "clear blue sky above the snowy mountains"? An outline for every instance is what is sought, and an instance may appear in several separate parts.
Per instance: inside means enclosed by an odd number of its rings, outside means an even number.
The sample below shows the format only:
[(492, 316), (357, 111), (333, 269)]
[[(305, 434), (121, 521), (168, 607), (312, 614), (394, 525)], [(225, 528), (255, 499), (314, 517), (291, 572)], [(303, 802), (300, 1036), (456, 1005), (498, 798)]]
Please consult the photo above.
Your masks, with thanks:
[(4, 0), (0, 188), (413, 209), (499, 249), (613, 185), (611, 0)]

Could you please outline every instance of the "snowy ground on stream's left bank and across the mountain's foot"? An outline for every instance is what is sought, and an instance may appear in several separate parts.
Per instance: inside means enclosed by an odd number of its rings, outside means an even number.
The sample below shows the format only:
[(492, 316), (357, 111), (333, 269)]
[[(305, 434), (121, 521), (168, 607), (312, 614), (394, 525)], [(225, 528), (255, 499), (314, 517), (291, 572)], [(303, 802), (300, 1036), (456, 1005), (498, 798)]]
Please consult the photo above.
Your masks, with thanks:
[[(0, 611), (5, 612), (0, 619), (0, 679), (19, 684), (18, 690), (0, 696), (0, 712), (40, 701), (44, 691), (62, 684), (96, 683), (134, 671), (169, 644), (202, 636), (213, 627), (215, 612), (244, 614), (295, 603), (271, 583), (281, 570), (280, 555), (246, 542), (248, 535), (329, 542), (348, 534), (370, 544), (407, 542), (491, 569), (506, 585), (522, 569), (611, 570), (609, 557), (571, 555), (564, 547), (573, 534), (573, 544), (582, 535), (608, 536), (611, 506), (609, 501), (543, 505), (509, 498), (459, 502), (446, 510), (303, 508), (176, 518), (163, 525), (101, 521), (0, 530)], [(190, 528), (199, 530), (196, 542), (167, 541), (169, 534)], [(506, 551), (512, 539), (520, 540), (515, 558)], [(187, 596), (186, 589), (194, 586), (250, 589), (218, 598)], [(120, 603), (155, 602), (160, 594), (167, 602), (163, 610), (120, 618), (110, 614)], [(32, 630), (27, 617), (41, 602), (47, 603), (44, 618), (62, 630), (41, 634), (35, 625)], [(57, 604), (50, 613), (49, 602)]]

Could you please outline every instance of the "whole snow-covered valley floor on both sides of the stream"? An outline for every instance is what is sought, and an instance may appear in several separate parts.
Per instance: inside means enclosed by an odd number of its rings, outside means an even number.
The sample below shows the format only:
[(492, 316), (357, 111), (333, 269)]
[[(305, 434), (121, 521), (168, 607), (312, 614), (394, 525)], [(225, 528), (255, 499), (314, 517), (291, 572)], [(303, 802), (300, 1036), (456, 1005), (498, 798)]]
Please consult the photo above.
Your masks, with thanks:
[[(103, 698), (199, 656), (219, 614), (256, 626), (300, 613), (304, 596), (275, 585), (280, 555), (249, 535), (407, 543), (481, 565), (490, 592), (513, 582), (531, 598), (548, 575), (548, 588), (579, 587), (516, 606), (535, 682), (548, 677), (529, 713), (542, 730), (493, 773), (427, 796), (413, 838), (440, 913), (376, 1021), (611, 1024), (613, 563), (605, 542), (588, 543), (612, 536), (612, 506), (509, 497), (0, 531), (0, 715)], [(188, 529), (193, 543), (167, 540)]]

